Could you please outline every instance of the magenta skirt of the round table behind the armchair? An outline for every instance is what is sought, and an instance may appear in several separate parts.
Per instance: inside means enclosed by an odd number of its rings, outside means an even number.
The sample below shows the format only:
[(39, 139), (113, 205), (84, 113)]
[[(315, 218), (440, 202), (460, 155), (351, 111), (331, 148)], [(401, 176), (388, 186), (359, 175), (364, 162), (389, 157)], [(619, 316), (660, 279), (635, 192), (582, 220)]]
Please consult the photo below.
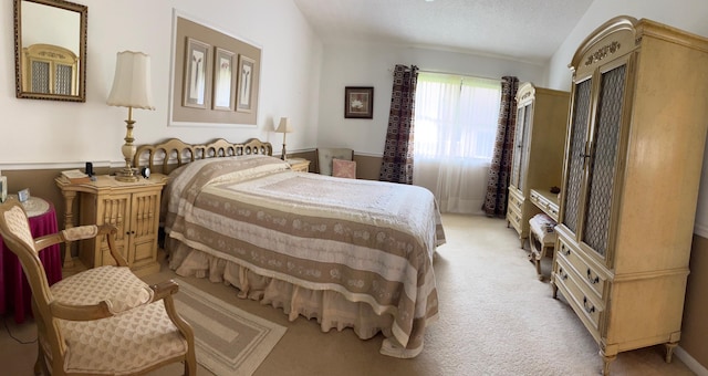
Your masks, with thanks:
[[(56, 211), (50, 202), (49, 210), (42, 215), (30, 217), (32, 236), (58, 232)], [(52, 285), (62, 279), (62, 254), (59, 244), (45, 248), (40, 252), (46, 280)], [(4, 247), (0, 238), (0, 314), (14, 311), (14, 321), (24, 322), (27, 315), (32, 316), (32, 291), (27, 282), (18, 257)]]

